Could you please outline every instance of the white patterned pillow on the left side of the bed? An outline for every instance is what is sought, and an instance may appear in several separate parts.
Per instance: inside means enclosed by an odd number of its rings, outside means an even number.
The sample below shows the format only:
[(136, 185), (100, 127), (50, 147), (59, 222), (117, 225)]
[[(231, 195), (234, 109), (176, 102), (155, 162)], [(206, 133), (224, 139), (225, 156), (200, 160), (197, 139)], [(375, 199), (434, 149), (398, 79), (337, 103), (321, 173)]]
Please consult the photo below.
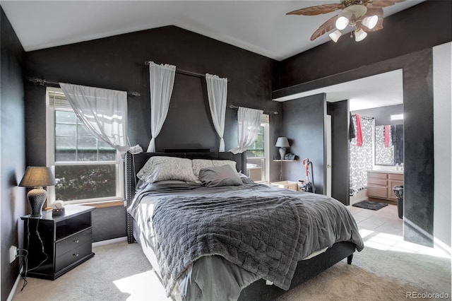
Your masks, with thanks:
[(177, 179), (186, 182), (199, 182), (194, 175), (190, 159), (155, 156), (146, 162), (136, 175), (148, 183)]

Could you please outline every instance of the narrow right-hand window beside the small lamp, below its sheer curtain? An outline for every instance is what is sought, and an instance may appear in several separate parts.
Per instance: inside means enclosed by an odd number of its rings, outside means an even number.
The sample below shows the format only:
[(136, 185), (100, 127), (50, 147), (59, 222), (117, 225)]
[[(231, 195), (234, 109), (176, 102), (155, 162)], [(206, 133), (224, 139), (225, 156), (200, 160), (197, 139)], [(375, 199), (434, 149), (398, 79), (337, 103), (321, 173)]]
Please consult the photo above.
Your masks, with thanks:
[(268, 120), (268, 114), (263, 114), (256, 141), (246, 150), (246, 175), (254, 182), (266, 182), (269, 179)]

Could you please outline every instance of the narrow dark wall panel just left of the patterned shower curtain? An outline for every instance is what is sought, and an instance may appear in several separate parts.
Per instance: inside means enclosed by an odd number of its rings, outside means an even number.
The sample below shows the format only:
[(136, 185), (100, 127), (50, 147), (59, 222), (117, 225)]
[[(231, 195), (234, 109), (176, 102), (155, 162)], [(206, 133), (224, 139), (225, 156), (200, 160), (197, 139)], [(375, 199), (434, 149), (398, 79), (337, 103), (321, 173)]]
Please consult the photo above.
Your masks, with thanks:
[(331, 196), (350, 205), (349, 102), (328, 102), (331, 115)]

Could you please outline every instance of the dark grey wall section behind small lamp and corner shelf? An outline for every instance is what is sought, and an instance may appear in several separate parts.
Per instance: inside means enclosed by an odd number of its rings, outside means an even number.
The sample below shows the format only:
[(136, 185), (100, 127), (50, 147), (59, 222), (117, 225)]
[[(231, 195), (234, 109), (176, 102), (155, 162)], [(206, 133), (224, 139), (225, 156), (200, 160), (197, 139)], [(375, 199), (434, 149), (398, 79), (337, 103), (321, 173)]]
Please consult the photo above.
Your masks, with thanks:
[(289, 138), (290, 152), (299, 156), (296, 162), (282, 163), (283, 180), (306, 179), (302, 160), (309, 158), (317, 194), (323, 194), (326, 182), (325, 96), (321, 93), (283, 102), (283, 133)]

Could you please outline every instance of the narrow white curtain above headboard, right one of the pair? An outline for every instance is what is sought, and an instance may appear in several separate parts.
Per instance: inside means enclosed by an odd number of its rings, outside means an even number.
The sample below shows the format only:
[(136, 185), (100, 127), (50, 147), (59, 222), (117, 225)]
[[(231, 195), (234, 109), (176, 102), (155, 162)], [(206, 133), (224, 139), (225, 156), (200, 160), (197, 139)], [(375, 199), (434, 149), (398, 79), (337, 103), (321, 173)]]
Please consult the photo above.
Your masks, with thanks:
[(220, 78), (206, 73), (207, 95), (209, 99), (210, 114), (212, 115), (213, 126), (220, 136), (220, 148), (218, 151), (225, 151), (225, 114), (227, 102), (227, 78)]

